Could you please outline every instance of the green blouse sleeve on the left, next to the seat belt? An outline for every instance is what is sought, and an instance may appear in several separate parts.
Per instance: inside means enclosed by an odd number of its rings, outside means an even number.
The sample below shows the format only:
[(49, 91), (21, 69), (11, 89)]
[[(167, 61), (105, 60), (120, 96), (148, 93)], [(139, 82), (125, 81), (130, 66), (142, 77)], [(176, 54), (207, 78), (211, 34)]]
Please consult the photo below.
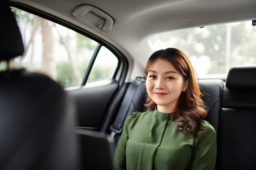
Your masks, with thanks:
[(126, 170), (126, 144), (128, 140), (128, 126), (137, 113), (131, 114), (124, 122), (124, 128), (118, 141), (118, 146), (114, 156), (116, 168), (118, 170)]

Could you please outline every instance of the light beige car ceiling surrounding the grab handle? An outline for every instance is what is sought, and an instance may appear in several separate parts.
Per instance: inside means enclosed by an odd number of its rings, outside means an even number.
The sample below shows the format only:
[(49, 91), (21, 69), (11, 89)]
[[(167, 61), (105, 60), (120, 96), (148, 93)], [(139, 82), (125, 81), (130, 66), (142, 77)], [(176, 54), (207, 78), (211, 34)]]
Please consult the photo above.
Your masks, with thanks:
[[(256, 0), (11, 0), (60, 17), (115, 46), (142, 66), (152, 53), (151, 34), (216, 23), (256, 19)], [(79, 4), (91, 4), (114, 19), (104, 32), (72, 15)], [(93, 18), (93, 17), (92, 17)], [(188, 24), (190, 22), (190, 24)], [(141, 60), (141, 58), (144, 58)]]

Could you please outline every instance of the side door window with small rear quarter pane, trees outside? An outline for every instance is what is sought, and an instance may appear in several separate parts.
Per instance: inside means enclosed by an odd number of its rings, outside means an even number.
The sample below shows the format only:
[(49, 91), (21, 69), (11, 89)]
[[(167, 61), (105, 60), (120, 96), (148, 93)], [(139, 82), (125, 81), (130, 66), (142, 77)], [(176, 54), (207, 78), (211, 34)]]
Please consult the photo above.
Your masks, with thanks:
[(46, 74), (62, 86), (81, 85), (95, 51), (101, 47), (87, 82), (113, 78), (118, 58), (98, 42), (18, 8), (12, 11), (25, 45), (15, 67)]

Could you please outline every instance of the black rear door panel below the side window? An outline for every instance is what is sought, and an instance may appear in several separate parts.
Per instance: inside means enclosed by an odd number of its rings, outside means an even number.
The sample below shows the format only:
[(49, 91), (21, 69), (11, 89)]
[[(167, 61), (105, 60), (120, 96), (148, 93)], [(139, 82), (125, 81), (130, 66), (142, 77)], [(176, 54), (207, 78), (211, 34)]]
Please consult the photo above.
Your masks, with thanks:
[(109, 101), (118, 89), (118, 82), (69, 90), (76, 102), (78, 126), (97, 130)]

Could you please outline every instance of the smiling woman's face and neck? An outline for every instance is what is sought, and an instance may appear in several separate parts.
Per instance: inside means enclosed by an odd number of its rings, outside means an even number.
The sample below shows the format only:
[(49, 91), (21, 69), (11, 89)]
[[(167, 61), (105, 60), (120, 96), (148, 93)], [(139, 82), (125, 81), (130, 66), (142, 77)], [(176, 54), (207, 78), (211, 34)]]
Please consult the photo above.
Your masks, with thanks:
[(146, 88), (158, 111), (172, 113), (181, 92), (187, 88), (187, 80), (170, 62), (158, 58), (148, 70)]

